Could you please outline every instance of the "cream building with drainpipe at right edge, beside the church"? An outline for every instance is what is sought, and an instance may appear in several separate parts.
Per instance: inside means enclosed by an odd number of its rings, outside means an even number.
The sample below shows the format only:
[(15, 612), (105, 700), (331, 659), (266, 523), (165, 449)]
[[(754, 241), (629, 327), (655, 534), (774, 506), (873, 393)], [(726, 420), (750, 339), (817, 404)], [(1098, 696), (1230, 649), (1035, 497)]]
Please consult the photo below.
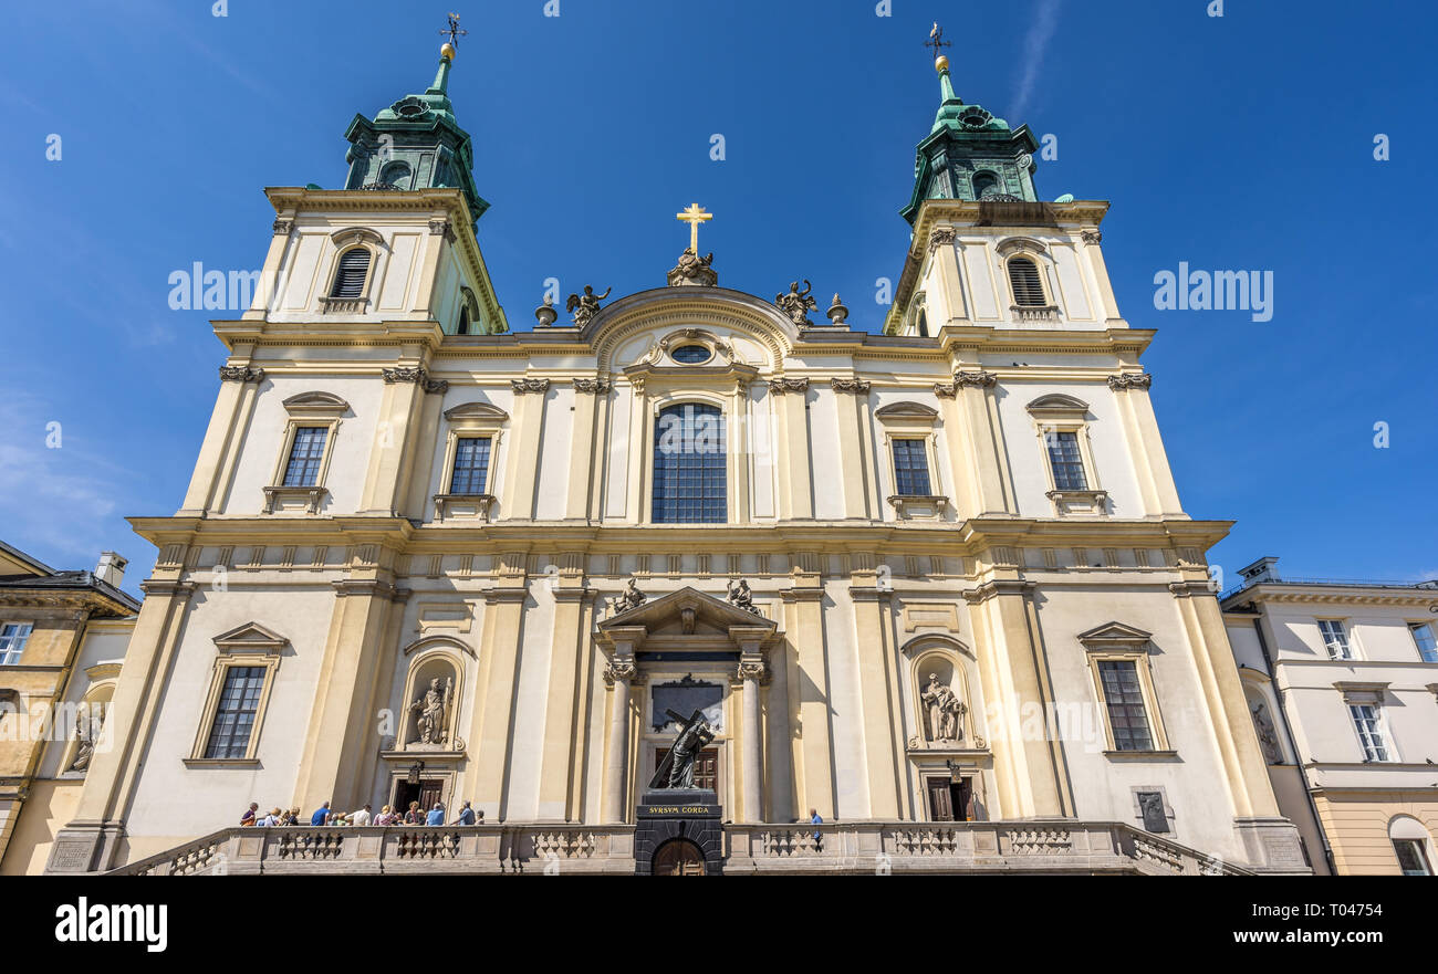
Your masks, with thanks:
[(1241, 569), (1224, 625), (1284, 815), (1313, 868), (1438, 868), (1438, 582)]

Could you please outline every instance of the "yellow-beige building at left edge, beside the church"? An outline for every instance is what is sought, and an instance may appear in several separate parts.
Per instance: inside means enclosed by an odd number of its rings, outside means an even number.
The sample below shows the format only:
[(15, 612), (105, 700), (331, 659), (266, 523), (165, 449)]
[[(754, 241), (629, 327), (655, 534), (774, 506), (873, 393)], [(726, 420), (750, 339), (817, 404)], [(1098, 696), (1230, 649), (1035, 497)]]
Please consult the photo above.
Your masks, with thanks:
[(96, 747), (139, 602), (125, 559), (58, 572), (0, 542), (0, 875), (39, 872)]

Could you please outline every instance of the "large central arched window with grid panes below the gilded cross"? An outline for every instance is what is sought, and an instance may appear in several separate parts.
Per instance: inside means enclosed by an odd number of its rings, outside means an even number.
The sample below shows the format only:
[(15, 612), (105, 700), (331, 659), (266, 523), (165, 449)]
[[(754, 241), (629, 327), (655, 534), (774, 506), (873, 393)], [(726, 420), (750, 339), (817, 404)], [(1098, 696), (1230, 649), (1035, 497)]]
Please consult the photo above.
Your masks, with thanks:
[(729, 520), (723, 412), (700, 402), (660, 409), (654, 419), (656, 524)]

